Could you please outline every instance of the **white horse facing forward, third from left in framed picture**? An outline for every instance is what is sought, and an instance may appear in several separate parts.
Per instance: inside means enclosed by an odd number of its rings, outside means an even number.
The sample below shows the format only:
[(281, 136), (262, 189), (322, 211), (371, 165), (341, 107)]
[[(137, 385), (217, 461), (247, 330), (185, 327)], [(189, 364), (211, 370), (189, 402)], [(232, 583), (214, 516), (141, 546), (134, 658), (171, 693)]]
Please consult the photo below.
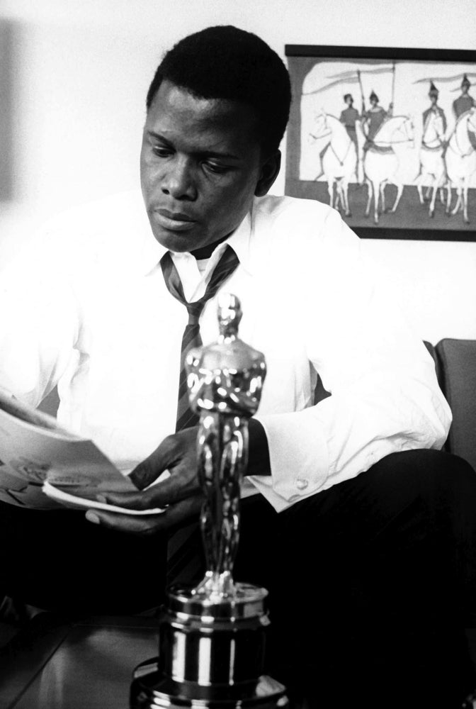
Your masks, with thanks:
[[(443, 116), (440, 113), (431, 111), (423, 128), (421, 136), (421, 151), (420, 151), (420, 172), (416, 177), (415, 184), (418, 189), (421, 204), (424, 204), (422, 184), (426, 183), (428, 189), (426, 196), (431, 192), (431, 201), (429, 206), (429, 216), (435, 213), (435, 202), (438, 189), (443, 194), (443, 187), (446, 186), (448, 194), (450, 186), (446, 175), (446, 164), (443, 157), (445, 150), (445, 125)], [(429, 184), (428, 184), (429, 183)]]

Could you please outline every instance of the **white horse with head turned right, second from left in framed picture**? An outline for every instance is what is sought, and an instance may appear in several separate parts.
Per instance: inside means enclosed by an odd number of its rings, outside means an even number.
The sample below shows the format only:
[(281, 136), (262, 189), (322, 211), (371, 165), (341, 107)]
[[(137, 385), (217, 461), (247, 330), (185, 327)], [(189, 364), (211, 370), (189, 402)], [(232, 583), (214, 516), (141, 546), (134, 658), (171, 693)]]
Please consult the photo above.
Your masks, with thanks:
[(385, 186), (394, 184), (397, 197), (390, 211), (395, 212), (402, 196), (403, 183), (397, 178), (399, 167), (399, 148), (413, 147), (414, 127), (409, 116), (387, 118), (373, 138), (368, 150), (363, 150), (365, 135), (359, 121), (356, 122), (359, 155), (363, 156), (363, 172), (368, 187), (368, 200), (365, 216), (370, 214), (370, 204), (374, 203), (373, 220), (378, 224), (379, 198), (382, 212), (385, 211)]

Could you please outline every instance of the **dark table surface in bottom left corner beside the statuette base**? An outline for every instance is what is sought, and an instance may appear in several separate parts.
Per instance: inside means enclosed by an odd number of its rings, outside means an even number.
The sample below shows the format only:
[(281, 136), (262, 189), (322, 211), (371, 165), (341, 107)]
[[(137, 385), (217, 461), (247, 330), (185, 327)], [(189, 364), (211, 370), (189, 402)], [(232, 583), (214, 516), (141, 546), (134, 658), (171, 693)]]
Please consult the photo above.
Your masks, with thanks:
[(0, 709), (128, 709), (132, 671), (157, 656), (154, 618), (49, 614), (0, 654)]

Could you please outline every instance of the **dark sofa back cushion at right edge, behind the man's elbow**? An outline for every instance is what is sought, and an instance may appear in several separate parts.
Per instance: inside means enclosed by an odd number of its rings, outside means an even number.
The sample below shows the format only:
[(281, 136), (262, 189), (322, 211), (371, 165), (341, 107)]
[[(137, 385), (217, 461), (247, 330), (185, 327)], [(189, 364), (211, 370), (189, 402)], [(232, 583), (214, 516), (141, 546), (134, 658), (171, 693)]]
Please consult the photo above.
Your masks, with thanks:
[(453, 412), (446, 450), (476, 469), (476, 340), (446, 338), (436, 352), (441, 388)]

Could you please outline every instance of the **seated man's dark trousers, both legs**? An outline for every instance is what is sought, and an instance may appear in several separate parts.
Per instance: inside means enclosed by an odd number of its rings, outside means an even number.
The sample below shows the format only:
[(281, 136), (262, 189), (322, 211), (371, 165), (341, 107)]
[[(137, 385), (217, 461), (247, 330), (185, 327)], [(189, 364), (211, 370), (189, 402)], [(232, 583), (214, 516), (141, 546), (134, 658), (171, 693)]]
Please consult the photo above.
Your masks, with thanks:
[[(164, 598), (165, 540), (83, 513), (1, 506), (8, 595), (41, 608), (137, 613)], [(269, 591), (267, 671), (316, 709), (457, 709), (476, 687), (476, 473), (392, 454), (277, 514), (242, 503), (234, 578)]]

